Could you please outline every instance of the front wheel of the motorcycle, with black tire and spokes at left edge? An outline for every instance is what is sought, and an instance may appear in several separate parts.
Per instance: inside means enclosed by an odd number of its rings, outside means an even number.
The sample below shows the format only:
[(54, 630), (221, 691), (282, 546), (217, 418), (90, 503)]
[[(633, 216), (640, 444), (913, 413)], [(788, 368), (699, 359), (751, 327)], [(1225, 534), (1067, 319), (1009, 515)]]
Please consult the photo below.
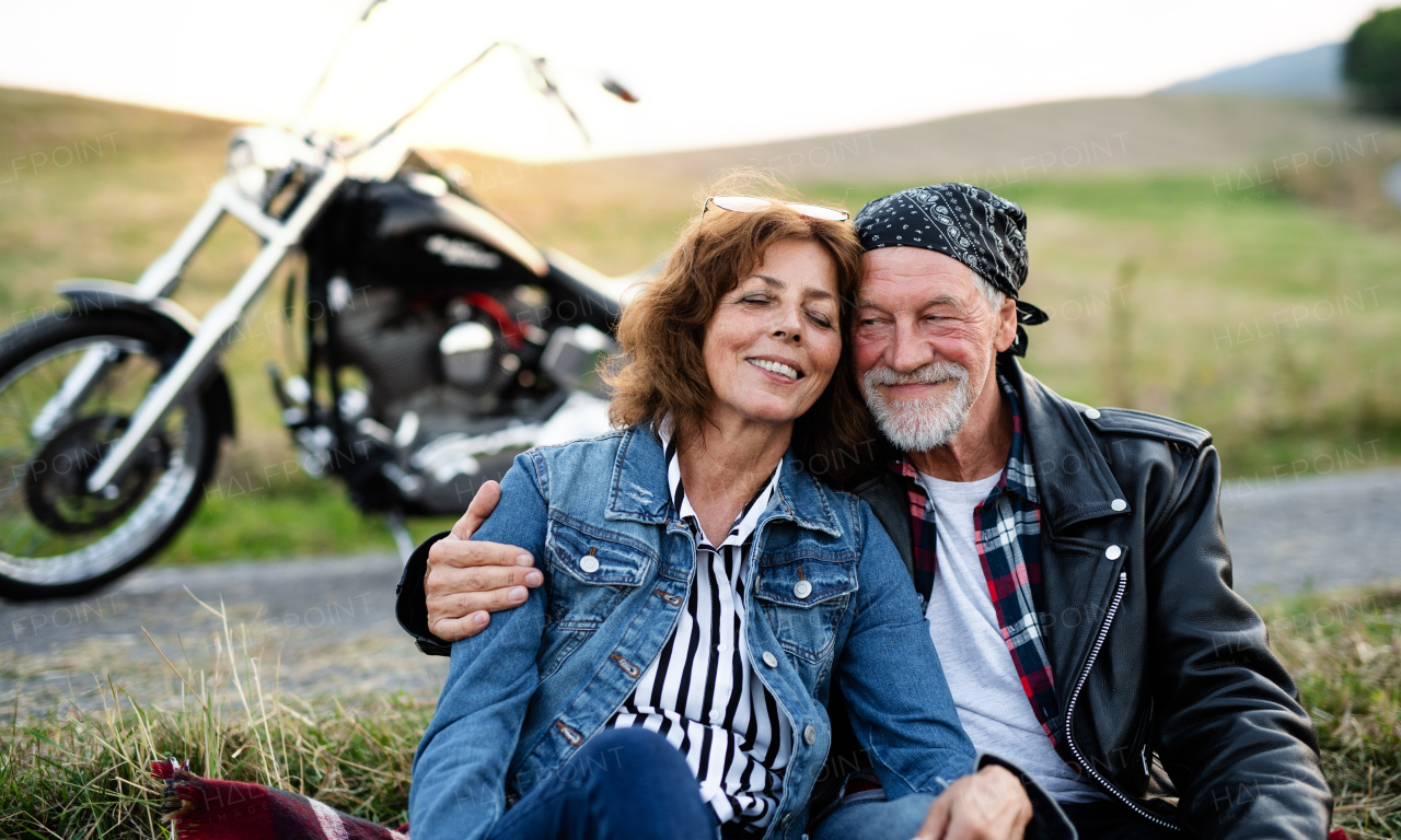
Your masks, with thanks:
[[(217, 403), (177, 403), (102, 493), (87, 476), (188, 336), (139, 312), (56, 314), (0, 336), (0, 596), (80, 595), (154, 556), (205, 496)], [(74, 391), (80, 363), (101, 374)], [(69, 399), (59, 393), (69, 382)], [(56, 410), (66, 406), (67, 410)]]

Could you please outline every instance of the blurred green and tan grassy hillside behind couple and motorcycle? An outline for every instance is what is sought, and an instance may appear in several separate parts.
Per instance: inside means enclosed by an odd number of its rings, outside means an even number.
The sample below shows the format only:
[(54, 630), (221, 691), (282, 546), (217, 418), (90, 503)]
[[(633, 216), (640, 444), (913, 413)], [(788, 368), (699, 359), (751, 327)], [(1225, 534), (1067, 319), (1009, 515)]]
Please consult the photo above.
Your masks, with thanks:
[[(231, 127), (0, 90), (6, 323), (52, 305), (62, 277), (134, 279), (220, 176)], [(1052, 386), (1210, 428), (1230, 476), (1401, 456), (1401, 223), (1379, 186), (1401, 132), (1337, 105), (1145, 97), (569, 165), (450, 157), (530, 235), (614, 273), (665, 252), (703, 182), (731, 165), (772, 167), (852, 210), (911, 183), (982, 183), (1028, 211), (1026, 297), (1052, 321), (1031, 330), (1027, 367)], [(221, 230), (182, 302), (203, 311), (251, 248)], [(277, 335), (230, 349), (240, 440), (168, 556), (388, 546), (333, 484), (245, 484), (290, 456), (269, 358), (284, 358)]]

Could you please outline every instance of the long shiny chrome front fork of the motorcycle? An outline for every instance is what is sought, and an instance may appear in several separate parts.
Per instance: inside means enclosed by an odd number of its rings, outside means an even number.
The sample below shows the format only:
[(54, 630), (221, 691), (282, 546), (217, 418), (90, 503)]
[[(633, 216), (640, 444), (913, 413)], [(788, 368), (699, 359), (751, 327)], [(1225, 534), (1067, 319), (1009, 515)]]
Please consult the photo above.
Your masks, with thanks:
[[(216, 351), (228, 340), (230, 333), (238, 326), (238, 321), (248, 311), (248, 307), (258, 300), (266, 288), (273, 272), (282, 265), (315, 220), (317, 214), (326, 204), (335, 190), (345, 181), (345, 167), (331, 164), (321, 178), (312, 185), (308, 193), (297, 204), (297, 209), (286, 221), (277, 221), (262, 213), (262, 210), (237, 193), (230, 181), (214, 185), (209, 200), (199, 210), (175, 245), (164, 256), (157, 259), (150, 269), (142, 274), (137, 288), (151, 298), (170, 294), (178, 283), (179, 272), (203, 244), (209, 231), (223, 217), (224, 213), (238, 218), (263, 239), (263, 248), (254, 262), (244, 270), (234, 283), (228, 294), (214, 304), (205, 315), (199, 329), (191, 337), (185, 351), (146, 393), (142, 403), (132, 413), (130, 424), (106, 455), (88, 476), (87, 489), (90, 493), (99, 493), (108, 484), (116, 482), (129, 468), (132, 456), (140, 445), (150, 437), (156, 426), (165, 417), (177, 402), (186, 396), (191, 389), (203, 381), (209, 371)], [(77, 370), (74, 371), (77, 372)], [(87, 368), (84, 368), (87, 374)], [(91, 371), (94, 374), (99, 370)], [(70, 392), (64, 381), (60, 393)], [(74, 386), (71, 392), (78, 392)]]

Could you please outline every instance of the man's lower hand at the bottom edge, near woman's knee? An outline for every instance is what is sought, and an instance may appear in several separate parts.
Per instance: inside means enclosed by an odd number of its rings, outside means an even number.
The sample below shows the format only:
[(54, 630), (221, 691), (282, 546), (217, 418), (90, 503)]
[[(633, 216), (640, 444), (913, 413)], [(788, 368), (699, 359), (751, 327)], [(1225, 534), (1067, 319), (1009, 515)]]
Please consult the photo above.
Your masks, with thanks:
[(1021, 840), (1031, 799), (1006, 767), (984, 767), (944, 788), (915, 840)]

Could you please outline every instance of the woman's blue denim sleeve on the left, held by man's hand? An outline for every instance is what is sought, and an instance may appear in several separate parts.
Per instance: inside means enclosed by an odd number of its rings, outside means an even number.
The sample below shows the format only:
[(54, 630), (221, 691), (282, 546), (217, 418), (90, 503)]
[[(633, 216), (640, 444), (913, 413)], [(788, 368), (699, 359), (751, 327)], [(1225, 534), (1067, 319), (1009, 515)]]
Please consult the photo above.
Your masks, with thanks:
[[(506, 542), (544, 556), (548, 507), (531, 455), (516, 456), (502, 500), (472, 539)], [(476, 840), (506, 811), (506, 776), (539, 682), (535, 657), (545, 626), (545, 588), (492, 616), (486, 630), (453, 645), (437, 711), (413, 756), (413, 840)]]

